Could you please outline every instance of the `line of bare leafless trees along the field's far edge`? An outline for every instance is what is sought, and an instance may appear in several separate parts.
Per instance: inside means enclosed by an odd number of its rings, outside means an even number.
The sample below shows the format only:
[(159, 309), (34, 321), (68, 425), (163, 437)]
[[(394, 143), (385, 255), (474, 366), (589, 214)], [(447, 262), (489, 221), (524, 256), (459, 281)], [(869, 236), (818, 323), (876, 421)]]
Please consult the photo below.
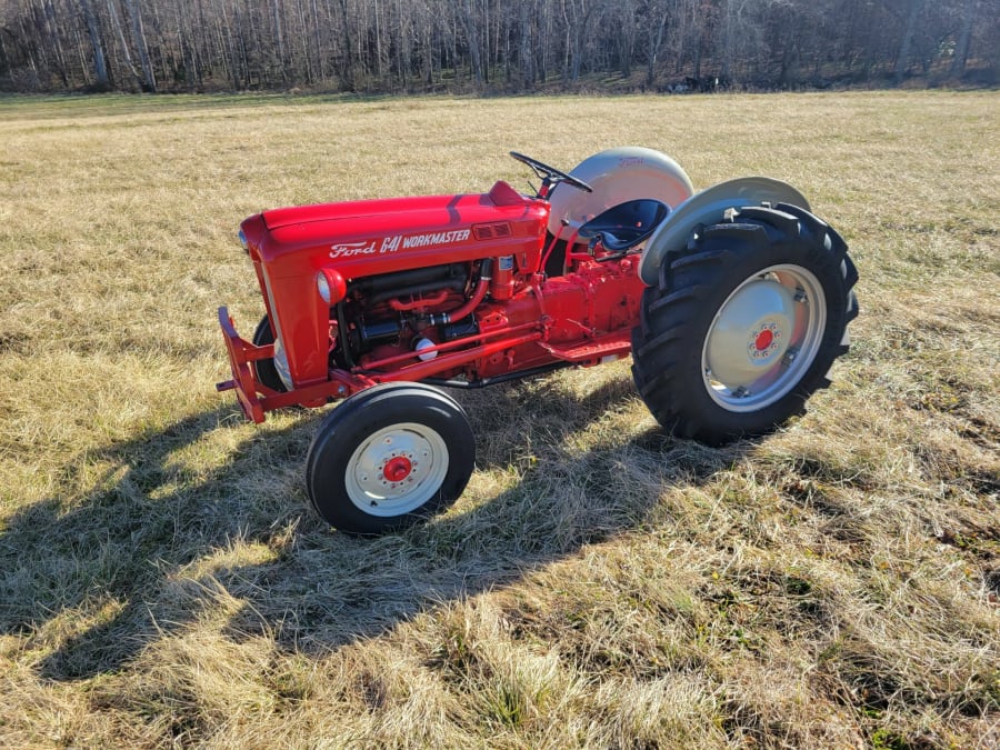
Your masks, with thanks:
[(0, 0), (0, 90), (996, 84), (996, 0)]

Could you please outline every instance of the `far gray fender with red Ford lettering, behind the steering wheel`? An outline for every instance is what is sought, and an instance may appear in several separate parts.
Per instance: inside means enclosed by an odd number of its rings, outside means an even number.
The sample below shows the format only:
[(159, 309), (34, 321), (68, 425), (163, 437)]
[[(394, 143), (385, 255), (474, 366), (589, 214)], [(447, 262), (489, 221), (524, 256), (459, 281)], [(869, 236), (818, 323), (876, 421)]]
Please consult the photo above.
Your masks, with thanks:
[(641, 146), (622, 146), (588, 157), (570, 172), (593, 188), (581, 192), (560, 186), (549, 200), (549, 231), (559, 234), (562, 222), (582, 224), (612, 206), (656, 198), (670, 208), (682, 203), (694, 192), (691, 179), (666, 153)]

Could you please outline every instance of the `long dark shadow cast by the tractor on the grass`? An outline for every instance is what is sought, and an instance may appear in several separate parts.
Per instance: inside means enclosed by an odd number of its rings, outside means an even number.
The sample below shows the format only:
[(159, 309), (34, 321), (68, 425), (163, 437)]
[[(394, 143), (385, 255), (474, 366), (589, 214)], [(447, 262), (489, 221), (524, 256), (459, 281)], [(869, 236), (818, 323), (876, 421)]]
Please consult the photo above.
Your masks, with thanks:
[(301, 472), (320, 414), (227, 444), (227, 461), (197, 481), (186, 467), (224, 434), (232, 409), (88, 454), (103, 471), (92, 489), (77, 499), (82, 479), (68, 477), (64, 494), (22, 510), (0, 537), (11, 602), (0, 632), (58, 643), (38, 664), (53, 680), (127, 669), (220, 611), (231, 639), (267, 634), (320, 653), (641, 528), (666, 489), (700, 484), (741, 451), (677, 441), (652, 422), (626, 440), (602, 429), (634, 398), (621, 378), (582, 398), (546, 379), (457, 398), (480, 457), (470, 492), (374, 539), (331, 532), (306, 511)]

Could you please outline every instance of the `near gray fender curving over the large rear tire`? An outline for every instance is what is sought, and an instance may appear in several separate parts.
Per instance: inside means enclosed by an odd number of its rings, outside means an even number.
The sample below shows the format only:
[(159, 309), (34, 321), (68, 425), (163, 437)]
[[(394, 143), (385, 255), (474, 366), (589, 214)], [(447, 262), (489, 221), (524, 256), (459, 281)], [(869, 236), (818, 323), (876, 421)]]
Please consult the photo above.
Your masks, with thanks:
[(719, 223), (726, 211), (761, 203), (791, 203), (809, 210), (809, 201), (798, 190), (781, 180), (769, 177), (741, 177), (738, 180), (720, 182), (691, 196), (670, 212), (646, 243), (639, 261), (639, 276), (650, 287), (654, 287), (660, 276), (660, 263), (671, 250), (681, 250), (688, 244), (691, 232), (698, 224)]

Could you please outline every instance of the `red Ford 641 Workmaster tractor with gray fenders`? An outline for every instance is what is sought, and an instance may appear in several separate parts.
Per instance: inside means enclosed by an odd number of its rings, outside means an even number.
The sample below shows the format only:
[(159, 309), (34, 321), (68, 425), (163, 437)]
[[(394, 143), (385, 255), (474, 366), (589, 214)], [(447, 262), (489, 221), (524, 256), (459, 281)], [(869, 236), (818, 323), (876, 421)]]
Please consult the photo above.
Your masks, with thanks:
[(447, 388), (632, 356), (673, 433), (766, 432), (828, 383), (858, 313), (847, 244), (790, 186), (694, 193), (669, 157), (603, 151), (481, 194), (283, 208), (243, 221), (267, 314), (252, 341), (219, 323), (246, 416), (344, 399), (312, 440), (317, 512), (356, 533), (439, 511), (472, 473)]

